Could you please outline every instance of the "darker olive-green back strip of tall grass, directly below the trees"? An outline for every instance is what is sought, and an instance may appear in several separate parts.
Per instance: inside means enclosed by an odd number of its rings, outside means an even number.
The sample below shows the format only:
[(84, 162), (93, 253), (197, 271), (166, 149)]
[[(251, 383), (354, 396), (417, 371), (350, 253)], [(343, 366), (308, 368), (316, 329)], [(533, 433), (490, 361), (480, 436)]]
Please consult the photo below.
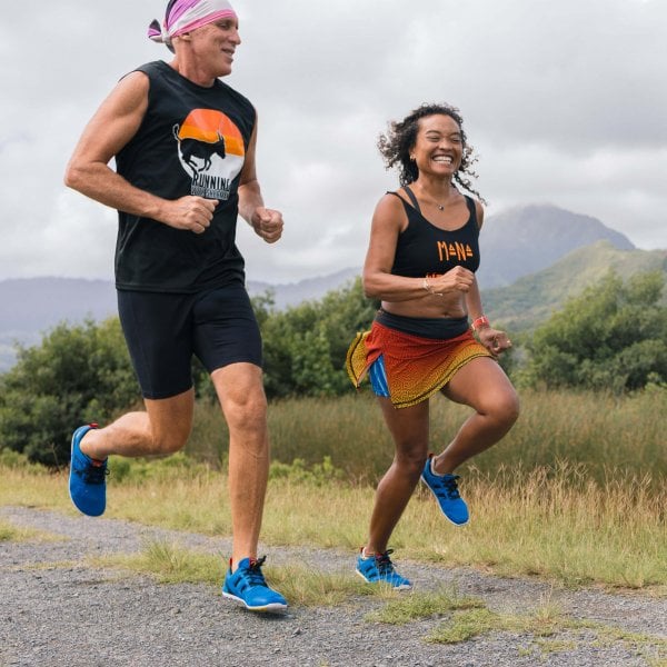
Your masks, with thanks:
[[(444, 397), (431, 399), (431, 447), (441, 450), (470, 410)], [(315, 464), (330, 457), (354, 482), (375, 482), (389, 466), (394, 446), (375, 399), (367, 391), (338, 399), (290, 399), (269, 408), (272, 458)], [(667, 391), (614, 397), (596, 392), (525, 391), (521, 415), (497, 446), (471, 465), (516, 476), (561, 461), (583, 466), (603, 484), (627, 474), (667, 478)], [(227, 457), (227, 427), (216, 406), (198, 406), (187, 450), (219, 466)], [(509, 477), (508, 477), (509, 480)]]

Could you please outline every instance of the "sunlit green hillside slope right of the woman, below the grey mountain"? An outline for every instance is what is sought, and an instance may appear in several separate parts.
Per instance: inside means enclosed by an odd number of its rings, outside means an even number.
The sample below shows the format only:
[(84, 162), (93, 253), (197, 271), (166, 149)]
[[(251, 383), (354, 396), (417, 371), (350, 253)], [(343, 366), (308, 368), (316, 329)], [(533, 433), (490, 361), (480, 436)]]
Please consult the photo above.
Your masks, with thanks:
[(667, 272), (667, 250), (617, 250), (609, 241), (598, 241), (509, 287), (482, 289), (482, 302), (495, 323), (511, 331), (526, 331), (610, 270), (627, 279), (633, 273), (658, 269)]

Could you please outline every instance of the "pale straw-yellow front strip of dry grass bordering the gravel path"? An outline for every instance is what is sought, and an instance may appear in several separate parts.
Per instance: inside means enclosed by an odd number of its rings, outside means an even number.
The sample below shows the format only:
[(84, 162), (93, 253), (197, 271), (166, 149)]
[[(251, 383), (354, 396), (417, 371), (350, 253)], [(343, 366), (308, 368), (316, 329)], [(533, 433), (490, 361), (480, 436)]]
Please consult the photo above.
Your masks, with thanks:
[[(225, 475), (167, 468), (141, 481), (128, 478), (108, 494), (109, 518), (207, 535), (230, 535)], [(492, 573), (537, 575), (565, 585), (603, 584), (667, 593), (667, 490), (646, 478), (600, 485), (575, 467), (536, 468), (522, 484), (472, 471), (464, 494), (471, 521), (454, 527), (428, 491), (418, 490), (394, 535), (399, 560), (481, 567)], [(48, 507), (74, 514), (64, 474), (34, 476), (2, 470), (0, 505)], [(369, 485), (289, 477), (271, 480), (262, 548), (334, 547), (350, 567), (366, 540), (374, 500)]]

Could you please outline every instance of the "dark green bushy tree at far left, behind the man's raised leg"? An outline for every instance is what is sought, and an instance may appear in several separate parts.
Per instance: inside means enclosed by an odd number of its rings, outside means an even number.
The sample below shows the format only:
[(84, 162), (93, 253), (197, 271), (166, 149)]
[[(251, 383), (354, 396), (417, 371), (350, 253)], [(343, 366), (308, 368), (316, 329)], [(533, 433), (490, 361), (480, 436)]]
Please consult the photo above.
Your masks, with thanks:
[(117, 318), (61, 323), (40, 346), (19, 347), (0, 376), (0, 447), (66, 464), (77, 426), (108, 421), (140, 398)]

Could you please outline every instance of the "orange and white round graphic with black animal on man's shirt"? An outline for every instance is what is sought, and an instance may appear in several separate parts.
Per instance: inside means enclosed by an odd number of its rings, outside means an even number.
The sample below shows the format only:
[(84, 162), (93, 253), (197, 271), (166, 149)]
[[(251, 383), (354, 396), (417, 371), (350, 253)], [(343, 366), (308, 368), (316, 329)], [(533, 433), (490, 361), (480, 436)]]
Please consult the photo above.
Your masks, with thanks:
[(231, 182), (243, 167), (246, 147), (233, 121), (221, 111), (195, 109), (173, 126), (178, 158), (190, 175), (190, 193), (207, 199), (229, 199)]

